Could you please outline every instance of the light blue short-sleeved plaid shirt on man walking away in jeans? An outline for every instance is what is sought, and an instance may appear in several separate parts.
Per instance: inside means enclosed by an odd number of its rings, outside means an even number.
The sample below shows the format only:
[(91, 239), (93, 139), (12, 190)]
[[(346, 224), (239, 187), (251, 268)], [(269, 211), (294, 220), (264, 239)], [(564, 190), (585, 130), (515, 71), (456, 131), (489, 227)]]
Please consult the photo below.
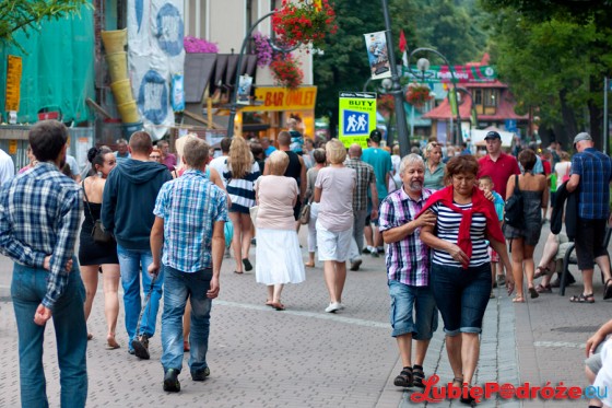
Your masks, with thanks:
[(225, 191), (188, 170), (162, 186), (153, 213), (164, 219), (162, 264), (188, 273), (212, 268), (214, 223), (228, 221)]

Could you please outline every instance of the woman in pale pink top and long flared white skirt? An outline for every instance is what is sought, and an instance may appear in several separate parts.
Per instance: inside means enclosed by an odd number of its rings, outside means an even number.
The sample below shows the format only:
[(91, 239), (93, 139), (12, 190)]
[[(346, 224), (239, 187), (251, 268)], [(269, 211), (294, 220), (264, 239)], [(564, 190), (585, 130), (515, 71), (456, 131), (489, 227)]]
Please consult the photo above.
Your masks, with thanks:
[(266, 304), (284, 311), (281, 292), (285, 283), (304, 281), (304, 264), (295, 231), (293, 207), (299, 189), (292, 177), (283, 176), (289, 155), (273, 152), (268, 159), (270, 174), (259, 177), (255, 184), (259, 210), (255, 226), (257, 246), (255, 277), (258, 283), (268, 285)]

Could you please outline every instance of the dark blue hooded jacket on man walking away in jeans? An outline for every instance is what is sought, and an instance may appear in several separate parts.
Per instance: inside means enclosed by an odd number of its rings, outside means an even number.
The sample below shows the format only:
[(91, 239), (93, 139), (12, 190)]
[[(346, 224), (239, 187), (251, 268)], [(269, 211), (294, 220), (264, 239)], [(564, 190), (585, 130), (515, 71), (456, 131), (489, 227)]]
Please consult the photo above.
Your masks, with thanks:
[(127, 249), (150, 249), (153, 208), (162, 185), (172, 179), (156, 162), (128, 159), (115, 167), (104, 186), (102, 223)]

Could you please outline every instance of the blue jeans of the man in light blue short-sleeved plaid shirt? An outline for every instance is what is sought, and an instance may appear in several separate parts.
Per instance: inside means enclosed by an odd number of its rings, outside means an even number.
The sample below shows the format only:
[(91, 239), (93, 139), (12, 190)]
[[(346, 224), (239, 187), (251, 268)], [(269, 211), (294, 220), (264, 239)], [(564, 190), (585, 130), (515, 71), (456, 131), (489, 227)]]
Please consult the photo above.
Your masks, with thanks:
[(187, 298), (191, 300), (191, 347), (189, 369), (200, 373), (208, 366), (210, 310), (212, 300), (207, 298), (212, 279), (212, 269), (202, 269), (193, 273), (164, 266), (166, 287), (164, 290), (164, 313), (162, 314), (162, 365), (164, 372), (169, 369), (183, 369), (183, 314)]

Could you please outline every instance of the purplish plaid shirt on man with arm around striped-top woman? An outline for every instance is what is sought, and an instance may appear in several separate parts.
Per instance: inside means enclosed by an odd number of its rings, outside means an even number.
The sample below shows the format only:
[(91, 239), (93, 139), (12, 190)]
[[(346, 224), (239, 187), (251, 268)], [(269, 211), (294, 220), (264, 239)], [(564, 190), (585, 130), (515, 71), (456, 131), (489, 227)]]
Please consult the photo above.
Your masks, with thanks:
[[(380, 203), (380, 232), (414, 220), (433, 191), (423, 188), (422, 193), (417, 201), (410, 198), (403, 188), (389, 194)], [(401, 241), (389, 244), (385, 261), (389, 280), (411, 287), (429, 284), (429, 248), (421, 241), (421, 229), (416, 229), (412, 235)]]

